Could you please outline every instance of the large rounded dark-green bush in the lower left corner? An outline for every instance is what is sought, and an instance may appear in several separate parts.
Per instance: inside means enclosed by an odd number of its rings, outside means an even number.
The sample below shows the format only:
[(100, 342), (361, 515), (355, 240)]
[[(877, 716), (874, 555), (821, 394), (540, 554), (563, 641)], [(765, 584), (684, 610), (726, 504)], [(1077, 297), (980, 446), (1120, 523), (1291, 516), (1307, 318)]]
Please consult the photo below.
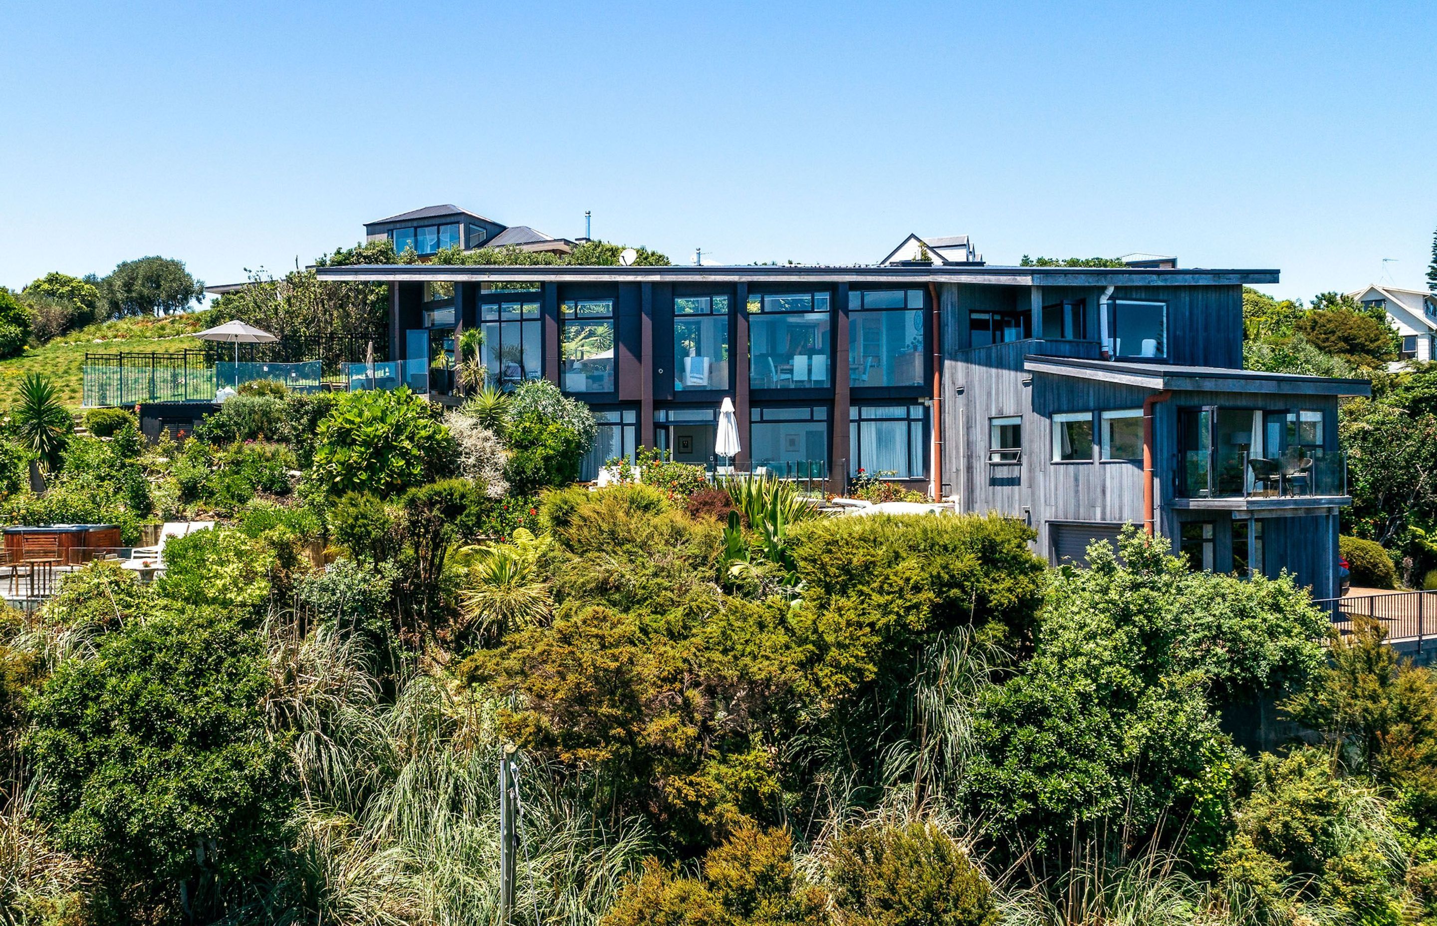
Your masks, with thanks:
[(290, 804), (269, 689), (259, 637), (204, 610), (131, 621), (40, 689), (36, 817), (116, 907), (177, 914), (182, 883), (198, 899), (269, 867)]

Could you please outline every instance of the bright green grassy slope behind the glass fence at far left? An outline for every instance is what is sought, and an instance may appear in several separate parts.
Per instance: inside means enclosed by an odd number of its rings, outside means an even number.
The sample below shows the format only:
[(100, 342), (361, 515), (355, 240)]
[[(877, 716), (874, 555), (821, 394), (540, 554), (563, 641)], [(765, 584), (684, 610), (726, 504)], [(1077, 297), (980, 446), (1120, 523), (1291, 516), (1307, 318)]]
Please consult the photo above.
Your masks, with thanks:
[(26, 348), (20, 357), (0, 361), (0, 408), (9, 408), (20, 380), (27, 372), (40, 372), (55, 381), (60, 401), (79, 408), (85, 385), (86, 352), (149, 352), (198, 348), (193, 336), (217, 324), (210, 309), (168, 315), (164, 318), (122, 318), (99, 322), (60, 335), (43, 347)]

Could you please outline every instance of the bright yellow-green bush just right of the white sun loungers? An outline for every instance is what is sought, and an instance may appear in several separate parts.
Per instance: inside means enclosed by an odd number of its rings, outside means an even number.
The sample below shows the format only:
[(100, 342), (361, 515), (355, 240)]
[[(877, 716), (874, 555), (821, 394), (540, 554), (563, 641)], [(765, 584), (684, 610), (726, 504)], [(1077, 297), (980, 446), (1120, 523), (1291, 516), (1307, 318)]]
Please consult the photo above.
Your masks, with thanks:
[(195, 531), (165, 541), (165, 574), (155, 579), (164, 597), (187, 605), (213, 605), (247, 617), (266, 604), (277, 568), (264, 541), (230, 528)]

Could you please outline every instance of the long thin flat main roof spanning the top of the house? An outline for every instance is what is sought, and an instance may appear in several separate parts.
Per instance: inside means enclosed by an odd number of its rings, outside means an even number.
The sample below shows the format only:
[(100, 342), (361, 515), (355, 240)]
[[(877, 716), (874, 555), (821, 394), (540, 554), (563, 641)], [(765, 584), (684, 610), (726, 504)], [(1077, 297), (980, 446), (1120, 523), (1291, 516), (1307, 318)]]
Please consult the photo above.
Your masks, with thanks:
[(997, 266), (575, 266), (382, 263), (316, 267), (319, 279), (448, 283), (987, 283), (1013, 286), (1239, 286), (1276, 283), (1277, 270)]

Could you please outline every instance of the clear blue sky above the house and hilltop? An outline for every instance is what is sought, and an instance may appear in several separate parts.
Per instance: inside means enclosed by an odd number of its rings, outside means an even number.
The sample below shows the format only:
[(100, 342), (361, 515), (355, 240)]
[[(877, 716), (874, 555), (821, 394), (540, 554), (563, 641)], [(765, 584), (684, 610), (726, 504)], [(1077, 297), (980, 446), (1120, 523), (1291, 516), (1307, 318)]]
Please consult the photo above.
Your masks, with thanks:
[[(1421, 286), (1431, 3), (0, 4), (0, 283), (456, 203), (675, 262), (908, 232)], [(706, 260), (707, 262), (707, 260)]]

